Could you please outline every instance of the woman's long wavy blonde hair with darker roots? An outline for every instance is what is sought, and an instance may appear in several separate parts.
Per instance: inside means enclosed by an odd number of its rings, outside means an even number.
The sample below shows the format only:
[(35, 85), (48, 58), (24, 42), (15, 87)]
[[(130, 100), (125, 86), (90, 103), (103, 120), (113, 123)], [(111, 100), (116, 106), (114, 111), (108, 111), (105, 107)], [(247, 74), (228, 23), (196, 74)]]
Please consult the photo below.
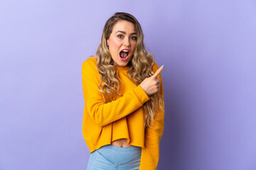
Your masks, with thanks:
[[(129, 78), (138, 86), (144, 79), (151, 77), (154, 74), (152, 71), (154, 57), (149, 52), (146, 52), (144, 35), (139, 22), (129, 13), (114, 13), (114, 16), (110, 17), (105, 24), (96, 55), (91, 56), (96, 57), (97, 59), (96, 67), (101, 78), (98, 89), (105, 96), (105, 103), (112, 101), (114, 96), (120, 95), (118, 93), (119, 76), (117, 68), (113, 66), (114, 61), (112, 60), (110, 50), (107, 46), (107, 40), (110, 38), (112, 29), (118, 21), (129, 21), (134, 23), (137, 32), (137, 45), (134, 50), (134, 55), (128, 63), (129, 70), (127, 75)], [(154, 122), (154, 115), (156, 113), (159, 113), (160, 110), (164, 112), (164, 98), (160, 95), (159, 91), (156, 94), (150, 95), (149, 98), (150, 100), (146, 101), (143, 105), (146, 127), (151, 127), (151, 123)]]

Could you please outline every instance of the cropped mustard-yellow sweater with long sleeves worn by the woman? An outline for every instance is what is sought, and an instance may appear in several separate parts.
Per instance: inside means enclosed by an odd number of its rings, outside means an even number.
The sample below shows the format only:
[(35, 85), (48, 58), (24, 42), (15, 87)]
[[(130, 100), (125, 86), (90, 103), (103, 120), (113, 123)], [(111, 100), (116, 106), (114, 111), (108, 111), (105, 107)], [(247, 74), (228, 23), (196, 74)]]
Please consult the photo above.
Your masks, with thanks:
[[(149, 97), (141, 86), (129, 79), (129, 67), (117, 67), (119, 94), (114, 101), (104, 103), (98, 90), (100, 74), (96, 69), (96, 58), (92, 57), (82, 64), (82, 89), (85, 108), (82, 121), (82, 135), (90, 152), (112, 141), (126, 138), (129, 145), (142, 147), (139, 169), (155, 170), (159, 162), (159, 142), (164, 131), (164, 113), (156, 114), (153, 128), (144, 128), (143, 104)], [(158, 69), (154, 63), (153, 71)], [(161, 75), (159, 75), (161, 79)], [(164, 98), (161, 81), (160, 94)]]

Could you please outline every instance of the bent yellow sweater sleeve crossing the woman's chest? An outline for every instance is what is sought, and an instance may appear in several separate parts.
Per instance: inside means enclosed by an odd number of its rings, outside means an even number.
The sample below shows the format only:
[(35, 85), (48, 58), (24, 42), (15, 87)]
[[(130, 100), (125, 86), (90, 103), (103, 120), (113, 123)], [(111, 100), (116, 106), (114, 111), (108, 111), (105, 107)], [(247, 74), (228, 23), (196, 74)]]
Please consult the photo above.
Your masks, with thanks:
[(100, 74), (92, 59), (85, 60), (82, 64), (82, 89), (85, 98), (85, 105), (90, 118), (100, 126), (108, 125), (115, 120), (124, 118), (126, 115), (136, 111), (149, 96), (141, 86), (127, 91), (115, 101), (104, 103), (102, 93), (99, 91)]

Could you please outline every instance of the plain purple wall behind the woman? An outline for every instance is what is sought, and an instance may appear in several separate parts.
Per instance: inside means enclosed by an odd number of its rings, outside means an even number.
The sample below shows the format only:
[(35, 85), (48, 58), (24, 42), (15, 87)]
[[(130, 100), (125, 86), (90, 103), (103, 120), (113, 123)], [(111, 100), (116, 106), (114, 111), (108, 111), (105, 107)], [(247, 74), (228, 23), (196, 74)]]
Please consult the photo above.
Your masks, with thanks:
[(0, 1), (0, 169), (86, 169), (81, 66), (132, 13), (162, 72), (159, 169), (256, 169), (256, 1)]

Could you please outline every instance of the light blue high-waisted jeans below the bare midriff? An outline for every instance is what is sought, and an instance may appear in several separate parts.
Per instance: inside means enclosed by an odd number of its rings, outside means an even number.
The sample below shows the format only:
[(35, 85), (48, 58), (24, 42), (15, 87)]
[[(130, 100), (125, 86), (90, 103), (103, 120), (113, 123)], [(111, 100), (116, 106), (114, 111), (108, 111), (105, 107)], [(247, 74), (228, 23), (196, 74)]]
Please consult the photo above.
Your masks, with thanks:
[(87, 170), (139, 169), (141, 147), (105, 145), (90, 154)]

